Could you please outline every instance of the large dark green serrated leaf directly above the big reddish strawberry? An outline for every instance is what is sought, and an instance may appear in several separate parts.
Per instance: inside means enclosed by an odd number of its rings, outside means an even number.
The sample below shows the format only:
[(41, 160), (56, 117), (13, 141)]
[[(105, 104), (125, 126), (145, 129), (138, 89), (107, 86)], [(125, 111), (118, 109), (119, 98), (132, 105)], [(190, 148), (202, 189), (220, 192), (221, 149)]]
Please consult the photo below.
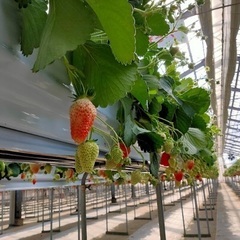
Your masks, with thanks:
[(85, 76), (84, 85), (95, 90), (95, 105), (114, 104), (131, 91), (137, 67), (117, 62), (108, 45), (88, 42), (74, 51), (73, 56), (73, 65)]

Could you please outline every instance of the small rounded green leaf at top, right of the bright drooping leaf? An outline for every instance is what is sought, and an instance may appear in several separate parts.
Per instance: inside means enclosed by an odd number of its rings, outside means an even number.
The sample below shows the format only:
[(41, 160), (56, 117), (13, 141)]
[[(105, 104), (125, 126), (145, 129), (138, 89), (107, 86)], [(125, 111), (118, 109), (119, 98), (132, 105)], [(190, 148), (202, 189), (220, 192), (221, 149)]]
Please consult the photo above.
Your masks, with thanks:
[(151, 35), (166, 35), (169, 32), (169, 25), (165, 16), (158, 12), (154, 12), (147, 16), (148, 27), (151, 29)]

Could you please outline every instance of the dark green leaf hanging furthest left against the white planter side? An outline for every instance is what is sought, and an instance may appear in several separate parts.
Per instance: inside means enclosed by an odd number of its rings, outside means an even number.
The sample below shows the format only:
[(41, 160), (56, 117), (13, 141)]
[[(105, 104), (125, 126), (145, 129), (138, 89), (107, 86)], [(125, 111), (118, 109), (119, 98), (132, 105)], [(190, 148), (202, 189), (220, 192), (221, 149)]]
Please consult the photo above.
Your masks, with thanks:
[(23, 55), (32, 54), (40, 45), (42, 31), (47, 20), (47, 4), (41, 0), (32, 0), (27, 8), (22, 8), (21, 51)]

